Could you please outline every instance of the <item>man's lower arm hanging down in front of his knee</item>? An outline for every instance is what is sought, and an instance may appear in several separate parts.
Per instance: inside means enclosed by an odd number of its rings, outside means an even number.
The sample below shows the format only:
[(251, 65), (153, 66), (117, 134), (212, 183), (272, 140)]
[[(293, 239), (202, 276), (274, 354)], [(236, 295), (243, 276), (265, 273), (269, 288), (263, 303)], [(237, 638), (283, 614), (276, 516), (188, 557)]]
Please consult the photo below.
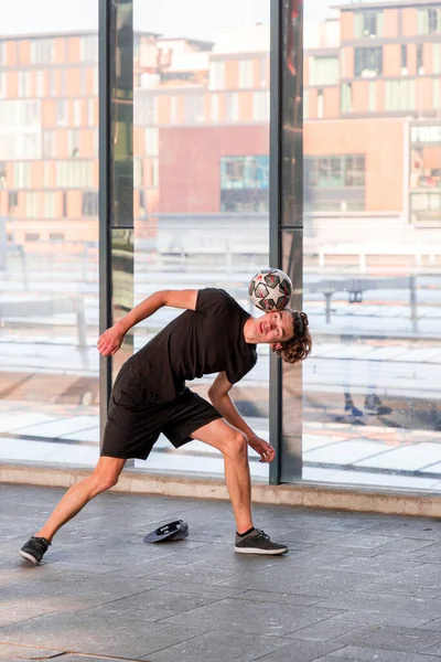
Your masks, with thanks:
[(248, 445), (259, 453), (261, 462), (272, 462), (276, 457), (275, 449), (267, 441), (258, 437), (245, 423), (229, 397), (232, 388), (233, 384), (229, 383), (226, 373), (219, 373), (208, 389), (208, 397), (213, 406), (216, 407), (229, 425), (233, 425), (233, 427), (247, 436)]

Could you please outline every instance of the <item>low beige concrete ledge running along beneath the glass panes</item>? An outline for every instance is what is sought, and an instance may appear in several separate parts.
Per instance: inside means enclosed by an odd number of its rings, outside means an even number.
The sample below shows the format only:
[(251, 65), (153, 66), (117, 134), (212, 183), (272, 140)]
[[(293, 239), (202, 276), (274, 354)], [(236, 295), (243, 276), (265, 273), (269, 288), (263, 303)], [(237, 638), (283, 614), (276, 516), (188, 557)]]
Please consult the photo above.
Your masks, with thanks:
[[(30, 467), (0, 465), (0, 483), (69, 488), (90, 474), (71, 467)], [(226, 501), (228, 492), (219, 479), (161, 476), (129, 470), (121, 474), (114, 492), (161, 494), (184, 499)], [(268, 505), (374, 512), (421, 517), (441, 516), (441, 494), (423, 491), (388, 491), (373, 488), (298, 483), (269, 485), (255, 482), (252, 501)]]

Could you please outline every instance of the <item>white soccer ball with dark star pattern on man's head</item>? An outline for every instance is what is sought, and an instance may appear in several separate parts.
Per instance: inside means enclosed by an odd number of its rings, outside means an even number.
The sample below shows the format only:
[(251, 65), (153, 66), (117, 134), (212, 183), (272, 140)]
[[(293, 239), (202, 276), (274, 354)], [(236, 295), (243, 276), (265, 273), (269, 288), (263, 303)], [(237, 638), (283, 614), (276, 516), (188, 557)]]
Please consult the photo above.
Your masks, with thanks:
[(252, 276), (248, 288), (251, 302), (263, 312), (287, 308), (291, 293), (292, 282), (280, 269), (261, 269)]

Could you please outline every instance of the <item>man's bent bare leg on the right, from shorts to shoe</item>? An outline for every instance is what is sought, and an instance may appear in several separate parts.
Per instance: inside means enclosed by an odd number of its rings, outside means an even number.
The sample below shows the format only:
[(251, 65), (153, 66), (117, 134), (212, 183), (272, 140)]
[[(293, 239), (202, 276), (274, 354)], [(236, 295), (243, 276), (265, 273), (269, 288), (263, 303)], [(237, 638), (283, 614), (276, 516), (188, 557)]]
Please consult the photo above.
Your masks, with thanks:
[(223, 453), (225, 482), (232, 500), (237, 532), (249, 531), (252, 528), (251, 479), (245, 435), (219, 418), (193, 433), (192, 437), (214, 446)]

